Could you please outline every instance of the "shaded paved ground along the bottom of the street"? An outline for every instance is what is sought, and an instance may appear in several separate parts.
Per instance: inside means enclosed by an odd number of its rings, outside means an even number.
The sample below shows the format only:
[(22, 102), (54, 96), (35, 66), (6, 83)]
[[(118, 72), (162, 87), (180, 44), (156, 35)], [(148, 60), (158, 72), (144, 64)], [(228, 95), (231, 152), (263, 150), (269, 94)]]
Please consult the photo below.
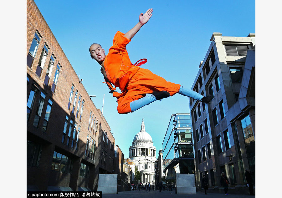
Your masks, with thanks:
[(116, 198), (173, 198), (173, 197), (191, 197), (191, 198), (201, 198), (201, 197), (207, 197), (207, 198), (220, 198), (220, 197), (228, 197), (228, 198), (250, 198), (255, 196), (250, 195), (238, 195), (238, 194), (218, 194), (218, 193), (208, 193), (205, 195), (203, 192), (197, 192), (197, 194), (175, 194), (175, 191), (146, 191), (146, 190), (131, 190), (131, 191), (125, 191), (125, 192), (119, 192), (118, 194), (102, 194), (102, 198), (110, 198), (110, 197), (116, 197)]

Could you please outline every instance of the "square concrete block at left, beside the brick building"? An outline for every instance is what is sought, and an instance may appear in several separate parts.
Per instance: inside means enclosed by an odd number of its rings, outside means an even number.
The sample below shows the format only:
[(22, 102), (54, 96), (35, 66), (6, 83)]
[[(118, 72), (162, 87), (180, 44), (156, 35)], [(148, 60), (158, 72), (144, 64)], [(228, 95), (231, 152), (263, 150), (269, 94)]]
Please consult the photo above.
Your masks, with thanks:
[(117, 174), (99, 174), (98, 191), (102, 191), (102, 194), (116, 194)]

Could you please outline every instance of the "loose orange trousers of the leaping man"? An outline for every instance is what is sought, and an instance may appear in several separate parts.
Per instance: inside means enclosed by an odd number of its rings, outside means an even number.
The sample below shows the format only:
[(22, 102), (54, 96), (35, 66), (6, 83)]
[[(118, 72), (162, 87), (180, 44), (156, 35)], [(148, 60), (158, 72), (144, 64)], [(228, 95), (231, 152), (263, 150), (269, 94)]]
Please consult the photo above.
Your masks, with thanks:
[(130, 79), (126, 89), (126, 95), (117, 100), (119, 114), (131, 113), (130, 103), (145, 97), (146, 94), (151, 94), (153, 91), (167, 91), (173, 96), (178, 93), (180, 84), (168, 82), (150, 70), (140, 68)]

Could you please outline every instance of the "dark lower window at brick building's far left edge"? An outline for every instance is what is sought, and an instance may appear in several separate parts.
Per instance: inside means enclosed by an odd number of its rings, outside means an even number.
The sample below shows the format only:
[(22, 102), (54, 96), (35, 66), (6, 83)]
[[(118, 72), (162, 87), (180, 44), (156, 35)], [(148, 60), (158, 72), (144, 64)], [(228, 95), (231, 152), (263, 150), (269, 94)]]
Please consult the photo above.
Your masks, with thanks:
[(27, 155), (26, 155), (26, 162), (27, 165), (30, 166), (38, 166), (39, 164), (39, 159), (40, 159), (40, 155), (41, 155), (41, 150), (42, 147), (41, 145), (32, 142), (30, 140), (27, 140)]

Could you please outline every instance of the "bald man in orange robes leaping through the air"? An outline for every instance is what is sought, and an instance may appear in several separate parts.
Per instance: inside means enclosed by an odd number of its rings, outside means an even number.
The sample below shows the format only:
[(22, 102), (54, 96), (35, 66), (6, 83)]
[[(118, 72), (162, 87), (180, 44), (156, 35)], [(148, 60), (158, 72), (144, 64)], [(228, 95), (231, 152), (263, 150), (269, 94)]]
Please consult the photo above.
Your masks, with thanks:
[[(91, 58), (102, 66), (101, 73), (111, 90), (110, 93), (117, 98), (118, 113), (127, 114), (136, 111), (147, 104), (173, 96), (176, 93), (209, 103), (213, 99), (212, 96), (202, 96), (190, 89), (185, 89), (180, 84), (168, 82), (148, 69), (140, 68), (141, 64), (147, 62), (146, 59), (141, 59), (142, 62), (140, 63), (137, 61), (138, 64), (131, 63), (126, 45), (148, 22), (152, 12), (153, 9), (151, 8), (145, 14), (141, 13), (139, 22), (127, 33), (118, 31), (115, 34), (113, 46), (109, 49), (107, 55), (105, 55), (105, 50), (100, 44), (93, 43), (89, 48)], [(120, 88), (121, 93), (115, 91), (116, 87)], [(150, 95), (146, 96), (146, 94)]]

